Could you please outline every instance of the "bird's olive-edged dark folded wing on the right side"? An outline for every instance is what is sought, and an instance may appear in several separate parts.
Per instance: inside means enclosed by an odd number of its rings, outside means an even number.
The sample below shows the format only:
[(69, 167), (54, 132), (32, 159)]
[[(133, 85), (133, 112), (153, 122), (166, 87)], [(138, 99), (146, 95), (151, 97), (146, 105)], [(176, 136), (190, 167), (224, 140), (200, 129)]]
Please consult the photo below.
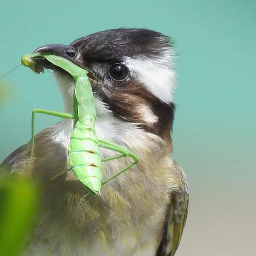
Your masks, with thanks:
[(173, 256), (178, 249), (188, 213), (188, 186), (181, 167), (173, 161), (173, 168), (180, 173), (180, 186), (170, 196), (161, 244), (156, 256)]

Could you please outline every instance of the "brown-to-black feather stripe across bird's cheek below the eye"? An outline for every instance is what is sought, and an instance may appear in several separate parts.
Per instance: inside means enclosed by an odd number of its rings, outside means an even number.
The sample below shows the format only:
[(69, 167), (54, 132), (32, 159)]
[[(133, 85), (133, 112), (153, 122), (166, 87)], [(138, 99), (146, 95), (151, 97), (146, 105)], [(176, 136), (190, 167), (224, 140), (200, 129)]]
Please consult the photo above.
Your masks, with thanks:
[[(94, 79), (89, 79), (99, 83)], [(175, 105), (167, 105), (157, 99), (144, 85), (136, 82), (122, 83), (118, 89), (109, 91), (109, 97), (105, 92), (99, 91), (100, 97), (109, 106), (113, 114), (126, 122), (140, 123), (141, 128), (168, 139), (172, 131), (172, 123)], [(158, 122), (151, 124), (143, 121), (140, 113), (140, 105), (149, 107), (158, 117)]]

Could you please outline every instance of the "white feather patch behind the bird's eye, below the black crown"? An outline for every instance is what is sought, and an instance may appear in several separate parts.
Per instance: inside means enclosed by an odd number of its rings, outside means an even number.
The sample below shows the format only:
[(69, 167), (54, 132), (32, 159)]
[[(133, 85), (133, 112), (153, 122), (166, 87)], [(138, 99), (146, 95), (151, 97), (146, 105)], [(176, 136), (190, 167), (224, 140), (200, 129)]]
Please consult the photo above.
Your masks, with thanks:
[(172, 102), (175, 89), (176, 75), (172, 69), (171, 56), (171, 52), (166, 51), (162, 58), (148, 59), (143, 56), (125, 58), (127, 67), (138, 78), (138, 81), (165, 103)]

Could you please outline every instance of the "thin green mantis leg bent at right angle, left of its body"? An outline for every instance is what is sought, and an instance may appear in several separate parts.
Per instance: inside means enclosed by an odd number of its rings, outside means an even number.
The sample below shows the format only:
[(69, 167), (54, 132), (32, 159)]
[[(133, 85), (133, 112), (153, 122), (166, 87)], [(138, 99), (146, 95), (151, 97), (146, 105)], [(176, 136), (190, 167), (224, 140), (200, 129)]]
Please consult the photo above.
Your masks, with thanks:
[(67, 114), (67, 113), (61, 113), (61, 112), (57, 112), (57, 111), (34, 108), (33, 111), (32, 111), (32, 115), (31, 115), (31, 154), (30, 154), (30, 158), (33, 157), (33, 155), (34, 155), (35, 114), (36, 113), (50, 115), (50, 116), (57, 116), (57, 117), (61, 117), (61, 118), (68, 118), (68, 119), (74, 119), (75, 118), (73, 115)]

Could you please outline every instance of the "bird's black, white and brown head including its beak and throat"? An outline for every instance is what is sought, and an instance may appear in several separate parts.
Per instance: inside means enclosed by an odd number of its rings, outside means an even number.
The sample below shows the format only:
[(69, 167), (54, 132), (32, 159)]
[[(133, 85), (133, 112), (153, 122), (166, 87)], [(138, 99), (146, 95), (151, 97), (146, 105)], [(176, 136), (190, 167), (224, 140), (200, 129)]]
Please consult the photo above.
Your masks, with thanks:
[[(58, 55), (89, 71), (98, 119), (115, 118), (170, 139), (175, 73), (169, 37), (148, 29), (111, 29), (35, 52)], [(65, 109), (73, 113), (71, 76), (44, 58), (35, 62), (55, 71)]]

